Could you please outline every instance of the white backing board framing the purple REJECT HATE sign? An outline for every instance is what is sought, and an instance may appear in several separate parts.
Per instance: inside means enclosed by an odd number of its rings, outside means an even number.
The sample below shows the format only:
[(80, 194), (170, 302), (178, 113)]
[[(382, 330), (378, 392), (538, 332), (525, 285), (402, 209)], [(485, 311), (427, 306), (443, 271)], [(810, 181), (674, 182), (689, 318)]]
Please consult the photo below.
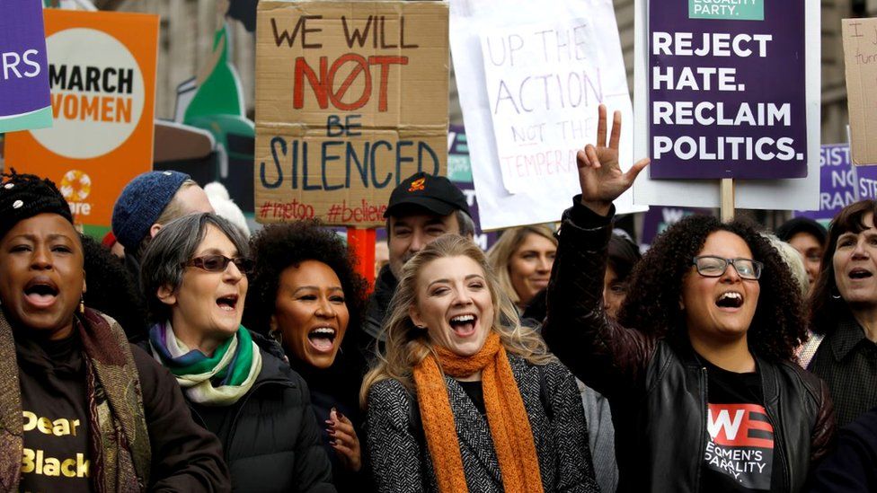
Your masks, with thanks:
[[(734, 180), (735, 206), (748, 209), (819, 209), (819, 142), (821, 110), (821, 66), (819, 0), (805, 0), (807, 52), (807, 178), (793, 180)], [(655, 3), (656, 7), (660, 4)], [(743, 21), (741, 21), (743, 22)], [(633, 97), (636, 101), (633, 154), (649, 155), (649, 0), (636, 0), (634, 7), (635, 53)], [(782, 75), (775, 75), (782, 76)], [(648, 170), (633, 184), (637, 205), (678, 207), (720, 207), (719, 180), (651, 180)]]

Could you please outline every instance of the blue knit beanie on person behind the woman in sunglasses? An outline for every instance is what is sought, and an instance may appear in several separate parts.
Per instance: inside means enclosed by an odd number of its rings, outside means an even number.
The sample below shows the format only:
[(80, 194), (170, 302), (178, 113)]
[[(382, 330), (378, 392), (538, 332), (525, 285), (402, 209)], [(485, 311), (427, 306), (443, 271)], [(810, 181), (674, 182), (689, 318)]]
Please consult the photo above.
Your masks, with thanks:
[(182, 182), (189, 179), (182, 172), (146, 172), (125, 186), (112, 207), (112, 233), (125, 250), (137, 250)]

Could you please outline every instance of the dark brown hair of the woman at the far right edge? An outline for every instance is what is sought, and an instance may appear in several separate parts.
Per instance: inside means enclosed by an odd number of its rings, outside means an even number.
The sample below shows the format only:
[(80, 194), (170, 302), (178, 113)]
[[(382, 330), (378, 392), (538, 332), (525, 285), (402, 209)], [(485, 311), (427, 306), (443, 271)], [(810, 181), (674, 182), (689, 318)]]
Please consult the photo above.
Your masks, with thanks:
[[(862, 233), (868, 229), (863, 223), (864, 216), (872, 214), (877, 221), (877, 201), (859, 200), (844, 207), (828, 226), (828, 240), (822, 252), (819, 277), (813, 281), (810, 295), (811, 329), (817, 334), (826, 334), (837, 327), (837, 322), (851, 317), (849, 305), (840, 297), (835, 282), (834, 256), (837, 240), (843, 233)], [(835, 297), (837, 296), (837, 298)]]

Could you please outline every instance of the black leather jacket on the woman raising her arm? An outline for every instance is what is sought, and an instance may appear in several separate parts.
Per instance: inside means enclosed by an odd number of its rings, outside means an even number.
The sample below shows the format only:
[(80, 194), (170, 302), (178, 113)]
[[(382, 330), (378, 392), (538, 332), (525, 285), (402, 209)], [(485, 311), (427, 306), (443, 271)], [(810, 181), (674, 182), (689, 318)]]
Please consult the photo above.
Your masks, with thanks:
[[(699, 491), (706, 445), (707, 375), (687, 341), (654, 339), (603, 312), (609, 217), (575, 198), (563, 215), (548, 286), (543, 337), (572, 373), (609, 400), (619, 491)], [(834, 409), (819, 378), (791, 362), (756, 357), (774, 427), (774, 467), (800, 491), (834, 436)]]

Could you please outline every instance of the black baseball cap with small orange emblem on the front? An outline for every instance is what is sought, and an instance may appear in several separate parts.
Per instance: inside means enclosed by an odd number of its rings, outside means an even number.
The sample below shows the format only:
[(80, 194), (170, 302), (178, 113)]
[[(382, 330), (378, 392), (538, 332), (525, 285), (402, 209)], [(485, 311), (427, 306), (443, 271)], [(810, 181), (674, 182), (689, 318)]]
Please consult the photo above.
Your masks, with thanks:
[(412, 174), (393, 189), (384, 217), (395, 216), (398, 211), (412, 206), (425, 208), (438, 216), (447, 216), (455, 210), (472, 216), (465, 195), (451, 180), (425, 172)]

